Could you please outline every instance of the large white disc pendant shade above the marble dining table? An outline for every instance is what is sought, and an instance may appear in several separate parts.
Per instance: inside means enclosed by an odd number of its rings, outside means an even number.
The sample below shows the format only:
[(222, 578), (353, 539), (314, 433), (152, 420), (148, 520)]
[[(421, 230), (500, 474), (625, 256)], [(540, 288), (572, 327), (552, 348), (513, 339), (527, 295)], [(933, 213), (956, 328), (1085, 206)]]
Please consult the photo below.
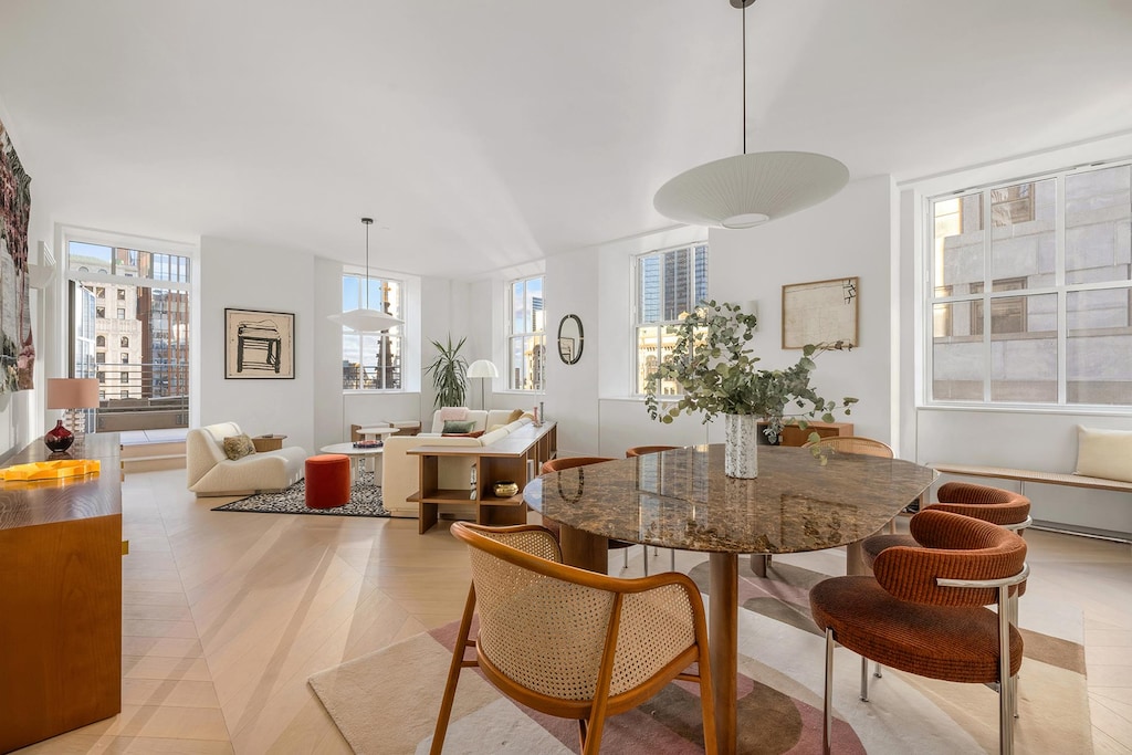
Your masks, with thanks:
[(825, 201), (849, 169), (812, 152), (755, 152), (687, 170), (653, 198), (661, 215), (689, 225), (745, 229)]

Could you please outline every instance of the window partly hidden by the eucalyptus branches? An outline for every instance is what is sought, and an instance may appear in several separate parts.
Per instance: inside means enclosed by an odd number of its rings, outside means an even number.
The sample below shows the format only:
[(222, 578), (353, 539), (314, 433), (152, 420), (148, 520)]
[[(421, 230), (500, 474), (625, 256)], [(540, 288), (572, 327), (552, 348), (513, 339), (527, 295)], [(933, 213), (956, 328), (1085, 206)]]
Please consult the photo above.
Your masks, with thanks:
[[(676, 325), (707, 298), (707, 243), (663, 249), (636, 258), (634, 342), (636, 383), (634, 392), (648, 389), (645, 377), (654, 371), (676, 342)], [(660, 394), (677, 393), (676, 386), (660, 386)]]

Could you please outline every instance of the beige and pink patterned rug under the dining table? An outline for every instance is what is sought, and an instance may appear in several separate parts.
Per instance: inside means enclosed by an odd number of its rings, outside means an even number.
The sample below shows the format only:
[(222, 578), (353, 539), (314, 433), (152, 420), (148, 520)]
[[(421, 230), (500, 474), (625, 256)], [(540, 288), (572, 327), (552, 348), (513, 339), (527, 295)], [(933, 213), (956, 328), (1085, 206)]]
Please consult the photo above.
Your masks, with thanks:
[[(703, 578), (703, 569), (692, 570)], [(739, 750), (821, 752), (824, 640), (808, 619), (806, 591), (821, 575), (777, 566), (772, 578), (744, 577), (740, 587)], [(709, 599), (710, 600), (710, 599)], [(359, 754), (427, 753), (455, 640), (456, 625), (411, 637), (316, 674), (310, 686)], [(1026, 636), (1019, 683), (1015, 750), (1091, 753), (1081, 646)], [(885, 671), (872, 702), (857, 700), (859, 659), (834, 660), (837, 753), (952, 755), (997, 752), (997, 695), (981, 686), (937, 683)], [(694, 686), (670, 685), (636, 711), (616, 717), (603, 752), (702, 753)], [(576, 726), (521, 707), (475, 671), (456, 692), (445, 753), (577, 752)]]

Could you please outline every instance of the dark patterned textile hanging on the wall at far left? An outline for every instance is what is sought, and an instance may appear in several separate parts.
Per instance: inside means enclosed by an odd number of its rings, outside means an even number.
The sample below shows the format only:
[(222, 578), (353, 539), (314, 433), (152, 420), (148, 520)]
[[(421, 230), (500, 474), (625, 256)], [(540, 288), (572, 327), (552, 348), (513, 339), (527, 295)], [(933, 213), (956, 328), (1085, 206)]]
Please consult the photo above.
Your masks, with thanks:
[(27, 300), (27, 222), (32, 179), (0, 123), (0, 393), (29, 391), (35, 346)]

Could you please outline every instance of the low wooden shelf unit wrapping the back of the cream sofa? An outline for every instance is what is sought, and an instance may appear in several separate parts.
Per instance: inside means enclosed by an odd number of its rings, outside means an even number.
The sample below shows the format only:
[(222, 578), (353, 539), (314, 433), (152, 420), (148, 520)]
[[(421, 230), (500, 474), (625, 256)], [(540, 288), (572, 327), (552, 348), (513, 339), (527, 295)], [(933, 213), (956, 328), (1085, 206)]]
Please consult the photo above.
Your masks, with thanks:
[[(428, 443), (428, 438), (421, 439)], [(409, 500), (418, 501), (420, 534), (428, 532), (437, 523), (444, 504), (475, 504), (475, 521), (479, 524), (524, 524), (526, 503), (523, 487), (537, 477), (542, 462), (554, 456), (558, 449), (557, 426), (543, 422), (535, 427), (528, 424), (506, 438), (488, 446), (420, 446), (408, 453), (420, 456), (420, 489)], [(439, 487), (440, 458), (463, 456), (475, 464), (475, 496), (471, 483), (466, 488), (441, 489)], [(528, 474), (531, 463), (533, 474)], [(518, 484), (518, 492), (508, 498), (497, 498), (492, 486), (499, 480), (511, 480)]]

